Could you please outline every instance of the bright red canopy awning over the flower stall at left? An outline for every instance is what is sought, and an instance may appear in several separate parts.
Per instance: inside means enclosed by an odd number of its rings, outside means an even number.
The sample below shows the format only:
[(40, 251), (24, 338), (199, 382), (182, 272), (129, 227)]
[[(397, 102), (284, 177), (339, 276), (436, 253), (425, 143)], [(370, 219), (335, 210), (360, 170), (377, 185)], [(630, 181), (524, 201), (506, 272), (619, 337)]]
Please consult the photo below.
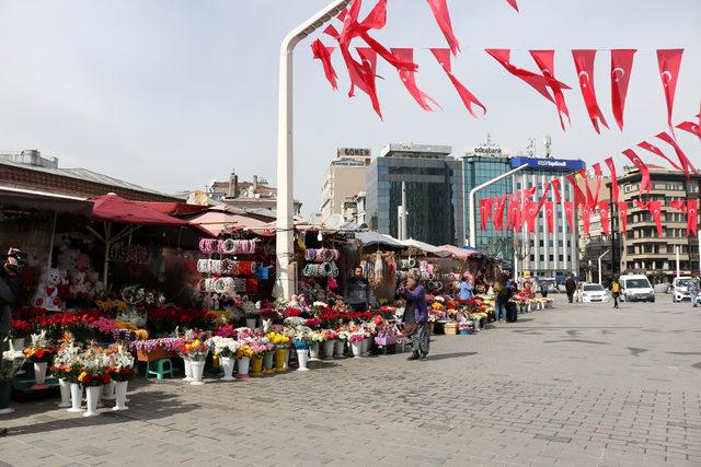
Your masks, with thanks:
[(123, 224), (185, 225), (186, 221), (110, 194), (93, 198), (92, 217)]

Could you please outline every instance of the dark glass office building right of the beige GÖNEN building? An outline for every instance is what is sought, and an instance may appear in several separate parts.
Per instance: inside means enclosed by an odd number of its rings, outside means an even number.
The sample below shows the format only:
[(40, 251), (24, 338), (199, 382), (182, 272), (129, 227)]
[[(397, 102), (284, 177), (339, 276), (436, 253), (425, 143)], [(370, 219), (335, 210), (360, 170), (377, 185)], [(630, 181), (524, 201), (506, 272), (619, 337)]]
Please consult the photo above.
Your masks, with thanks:
[(462, 163), (447, 145), (389, 144), (366, 176), (366, 223), (399, 236), (402, 183), (406, 187), (406, 237), (433, 245), (462, 245)]

